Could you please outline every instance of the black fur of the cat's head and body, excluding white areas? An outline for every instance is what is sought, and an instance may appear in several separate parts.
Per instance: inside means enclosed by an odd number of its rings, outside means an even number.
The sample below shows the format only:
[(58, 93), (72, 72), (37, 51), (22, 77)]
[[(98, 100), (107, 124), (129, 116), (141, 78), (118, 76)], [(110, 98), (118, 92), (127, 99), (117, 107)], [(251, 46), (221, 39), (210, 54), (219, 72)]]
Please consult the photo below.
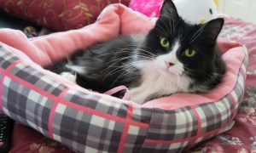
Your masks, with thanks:
[[(159, 40), (160, 37), (167, 37), (170, 42), (177, 39), (181, 42), (177, 59), (185, 65), (184, 73), (193, 80), (190, 91), (206, 93), (221, 82), (225, 73), (225, 65), (216, 43), (223, 24), (223, 19), (216, 19), (204, 25), (189, 25), (178, 16), (172, 0), (166, 0), (155, 27), (144, 38), (134, 40), (134, 36), (119, 36), (77, 51), (70, 57), (68, 64), (65, 60), (47, 69), (60, 73), (69, 70), (68, 66), (65, 67), (66, 64), (84, 67), (84, 74), (77, 72), (77, 83), (99, 92), (119, 85), (137, 87), (143, 82), (143, 78), (139, 69), (129, 65), (134, 60), (134, 54), (166, 54), (170, 49), (162, 48)], [(170, 48), (172, 45), (173, 43)], [(183, 56), (187, 48), (197, 51), (194, 58)], [(125, 71), (127, 69), (132, 69), (132, 72)]]

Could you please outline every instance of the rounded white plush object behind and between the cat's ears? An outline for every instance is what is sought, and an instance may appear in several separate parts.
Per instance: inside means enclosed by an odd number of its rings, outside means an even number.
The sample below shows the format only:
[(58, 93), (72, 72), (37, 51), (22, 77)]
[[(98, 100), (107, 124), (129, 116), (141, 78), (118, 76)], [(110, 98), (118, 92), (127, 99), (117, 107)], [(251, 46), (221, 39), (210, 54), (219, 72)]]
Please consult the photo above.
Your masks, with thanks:
[(217, 17), (217, 8), (213, 0), (173, 0), (173, 3), (183, 20), (191, 23), (205, 23)]

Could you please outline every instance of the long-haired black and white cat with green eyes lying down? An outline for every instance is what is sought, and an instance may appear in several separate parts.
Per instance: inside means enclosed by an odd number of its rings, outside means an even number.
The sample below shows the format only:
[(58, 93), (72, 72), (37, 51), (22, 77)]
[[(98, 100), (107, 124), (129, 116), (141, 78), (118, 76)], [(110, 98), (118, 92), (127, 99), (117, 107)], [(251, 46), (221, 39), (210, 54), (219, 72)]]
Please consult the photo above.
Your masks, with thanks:
[(186, 23), (172, 0), (165, 0), (148, 34), (119, 36), (81, 49), (49, 70), (98, 92), (125, 85), (138, 104), (177, 92), (207, 93), (225, 73), (216, 42), (223, 25), (223, 19)]

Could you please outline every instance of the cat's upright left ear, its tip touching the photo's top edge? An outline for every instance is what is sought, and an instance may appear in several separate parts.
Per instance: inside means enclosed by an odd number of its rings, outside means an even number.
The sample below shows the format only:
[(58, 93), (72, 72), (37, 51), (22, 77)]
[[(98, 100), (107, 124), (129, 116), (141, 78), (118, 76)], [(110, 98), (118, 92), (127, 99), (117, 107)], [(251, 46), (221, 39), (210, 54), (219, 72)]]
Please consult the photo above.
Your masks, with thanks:
[(171, 20), (177, 20), (179, 18), (177, 14), (177, 8), (172, 0), (165, 0), (160, 8), (160, 18), (170, 18)]

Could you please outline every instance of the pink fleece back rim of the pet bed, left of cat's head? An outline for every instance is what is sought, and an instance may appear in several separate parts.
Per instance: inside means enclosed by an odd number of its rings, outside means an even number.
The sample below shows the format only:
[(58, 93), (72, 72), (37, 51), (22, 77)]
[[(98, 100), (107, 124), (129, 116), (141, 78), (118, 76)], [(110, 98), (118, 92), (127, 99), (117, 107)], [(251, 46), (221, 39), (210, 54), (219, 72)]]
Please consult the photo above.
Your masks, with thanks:
[[(47, 65), (53, 60), (63, 59), (73, 50), (117, 37), (119, 33), (144, 33), (154, 26), (153, 21), (148, 22), (137, 14), (125, 11), (123, 5), (109, 8), (108, 12), (108, 14), (102, 14), (102, 20), (93, 26), (34, 39), (27, 39), (21, 31), (1, 29), (0, 41), (19, 49), (35, 63)], [(141, 25), (145, 22), (148, 24), (142, 28)]]

